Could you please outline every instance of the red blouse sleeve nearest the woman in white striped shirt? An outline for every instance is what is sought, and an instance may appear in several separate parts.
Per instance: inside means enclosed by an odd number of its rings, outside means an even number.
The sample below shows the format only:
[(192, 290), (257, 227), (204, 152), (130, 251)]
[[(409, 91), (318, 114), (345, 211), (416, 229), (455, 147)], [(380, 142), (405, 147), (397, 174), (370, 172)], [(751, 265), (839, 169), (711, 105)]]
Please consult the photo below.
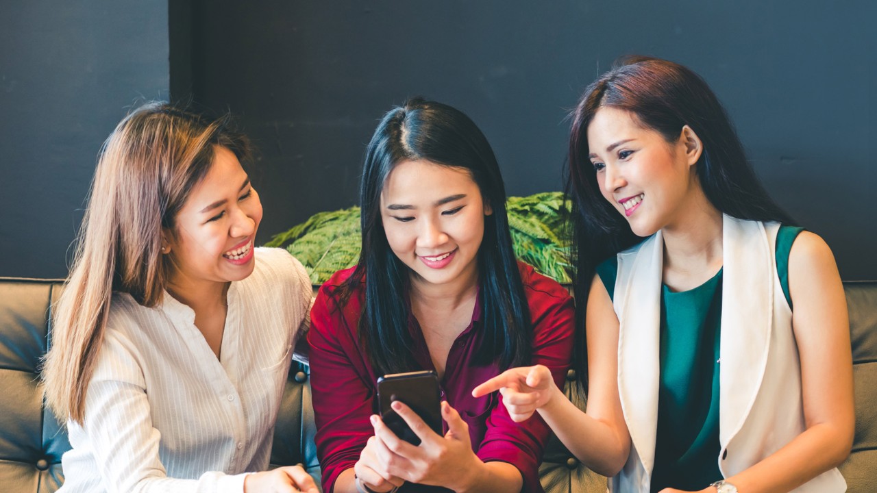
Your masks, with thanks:
[(324, 491), (353, 468), (372, 436), (374, 376), (358, 349), (360, 300), (354, 296), (340, 310), (332, 290), (350, 275), (341, 271), (325, 282), (310, 311), (310, 385), (317, 422), (317, 458)]

